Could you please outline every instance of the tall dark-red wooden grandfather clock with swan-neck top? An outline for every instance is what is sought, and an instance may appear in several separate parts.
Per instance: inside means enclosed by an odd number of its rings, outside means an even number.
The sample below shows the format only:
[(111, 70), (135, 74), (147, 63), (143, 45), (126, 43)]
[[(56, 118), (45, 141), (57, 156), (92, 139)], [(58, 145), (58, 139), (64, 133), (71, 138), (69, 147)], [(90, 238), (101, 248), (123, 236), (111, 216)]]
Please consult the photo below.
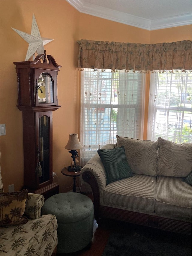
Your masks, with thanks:
[[(48, 59), (48, 60), (47, 60)], [(57, 99), (57, 73), (62, 66), (51, 55), (16, 65), (18, 109), (23, 116), (24, 187), (45, 199), (59, 192), (52, 178), (52, 111)]]

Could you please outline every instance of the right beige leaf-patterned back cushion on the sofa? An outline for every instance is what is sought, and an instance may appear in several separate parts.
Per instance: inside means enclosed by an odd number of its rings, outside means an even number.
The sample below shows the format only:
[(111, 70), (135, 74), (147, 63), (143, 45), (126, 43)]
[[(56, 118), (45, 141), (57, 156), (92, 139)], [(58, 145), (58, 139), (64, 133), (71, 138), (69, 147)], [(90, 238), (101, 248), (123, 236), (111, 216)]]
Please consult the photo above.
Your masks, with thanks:
[(158, 175), (186, 177), (192, 169), (192, 143), (177, 144), (158, 138)]

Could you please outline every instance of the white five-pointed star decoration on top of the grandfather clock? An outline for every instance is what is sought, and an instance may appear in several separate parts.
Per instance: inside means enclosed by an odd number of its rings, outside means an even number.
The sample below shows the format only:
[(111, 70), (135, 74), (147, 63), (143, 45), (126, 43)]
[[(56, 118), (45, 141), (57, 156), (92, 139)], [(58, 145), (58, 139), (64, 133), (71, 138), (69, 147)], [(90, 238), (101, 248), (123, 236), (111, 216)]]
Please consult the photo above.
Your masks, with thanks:
[(13, 29), (13, 30), (29, 44), (25, 61), (30, 59), (31, 56), (35, 54), (35, 52), (37, 52), (38, 54), (44, 53), (44, 45), (54, 40), (54, 39), (43, 38), (43, 37), (41, 38), (34, 14), (33, 14), (33, 20), (32, 20), (31, 35), (28, 33), (22, 32), (18, 29)]

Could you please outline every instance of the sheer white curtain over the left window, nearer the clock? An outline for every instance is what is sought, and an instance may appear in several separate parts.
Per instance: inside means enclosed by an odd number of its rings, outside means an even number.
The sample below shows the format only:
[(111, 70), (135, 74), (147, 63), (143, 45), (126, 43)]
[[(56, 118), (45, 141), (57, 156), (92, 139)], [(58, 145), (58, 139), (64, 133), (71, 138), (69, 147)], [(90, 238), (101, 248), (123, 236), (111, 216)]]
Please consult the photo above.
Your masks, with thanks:
[(80, 141), (84, 165), (116, 134), (143, 139), (145, 74), (81, 71)]

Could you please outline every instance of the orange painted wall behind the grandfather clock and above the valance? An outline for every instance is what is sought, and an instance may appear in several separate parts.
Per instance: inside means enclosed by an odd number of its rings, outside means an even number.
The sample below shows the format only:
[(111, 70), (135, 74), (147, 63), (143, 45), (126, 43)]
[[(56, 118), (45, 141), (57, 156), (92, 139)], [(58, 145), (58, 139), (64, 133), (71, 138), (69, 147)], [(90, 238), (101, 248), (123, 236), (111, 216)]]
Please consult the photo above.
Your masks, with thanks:
[[(60, 191), (68, 191), (72, 179), (61, 174), (61, 169), (70, 164), (70, 155), (64, 146), (69, 133), (78, 133), (80, 122), (76, 41), (148, 44), (191, 40), (191, 26), (147, 31), (79, 13), (66, 1), (0, 1), (0, 124), (6, 124), (6, 135), (0, 136), (4, 191), (13, 183), (15, 190), (23, 185), (22, 112), (16, 107), (17, 78), (13, 62), (25, 60), (28, 43), (11, 27), (30, 34), (33, 13), (41, 36), (54, 39), (45, 46), (46, 53), (62, 65), (58, 73), (58, 101), (62, 107), (53, 112), (53, 171), (59, 178)], [(149, 77), (147, 81), (146, 91)]]

